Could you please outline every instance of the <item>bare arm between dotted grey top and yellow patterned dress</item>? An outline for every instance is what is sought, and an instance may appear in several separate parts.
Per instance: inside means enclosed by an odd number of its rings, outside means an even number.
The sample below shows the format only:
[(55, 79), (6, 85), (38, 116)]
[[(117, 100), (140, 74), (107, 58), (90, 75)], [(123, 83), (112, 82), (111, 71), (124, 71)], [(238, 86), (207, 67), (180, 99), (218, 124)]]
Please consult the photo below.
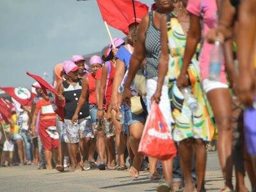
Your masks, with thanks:
[(164, 77), (168, 72), (168, 63), (169, 63), (169, 48), (168, 48), (168, 36), (167, 36), (167, 26), (166, 26), (166, 15), (161, 17), (160, 30), (161, 30), (161, 55), (159, 58), (158, 65), (158, 80), (156, 93), (152, 96), (151, 101), (160, 102), (162, 87), (164, 84)]

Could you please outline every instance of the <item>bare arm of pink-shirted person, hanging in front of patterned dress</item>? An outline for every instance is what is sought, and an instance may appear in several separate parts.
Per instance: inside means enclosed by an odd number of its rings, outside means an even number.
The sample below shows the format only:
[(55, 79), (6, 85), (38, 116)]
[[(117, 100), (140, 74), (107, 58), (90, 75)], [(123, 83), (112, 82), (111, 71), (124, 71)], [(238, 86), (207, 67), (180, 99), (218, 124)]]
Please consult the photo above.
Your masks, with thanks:
[(179, 88), (188, 86), (188, 79), (186, 77), (188, 66), (196, 52), (196, 46), (201, 39), (200, 18), (192, 13), (189, 13), (189, 18), (189, 31), (183, 57), (183, 64), (180, 70), (180, 75), (177, 79), (177, 86), (179, 86)]

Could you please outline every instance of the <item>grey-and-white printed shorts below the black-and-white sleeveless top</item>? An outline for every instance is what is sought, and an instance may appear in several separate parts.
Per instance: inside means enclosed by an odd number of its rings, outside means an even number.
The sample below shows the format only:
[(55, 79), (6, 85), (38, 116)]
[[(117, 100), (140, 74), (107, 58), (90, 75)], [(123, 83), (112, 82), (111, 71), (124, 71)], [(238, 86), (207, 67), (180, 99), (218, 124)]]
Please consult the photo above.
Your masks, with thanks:
[(81, 118), (76, 124), (72, 124), (69, 119), (64, 120), (66, 143), (78, 143), (81, 138), (94, 138), (92, 122), (89, 118)]

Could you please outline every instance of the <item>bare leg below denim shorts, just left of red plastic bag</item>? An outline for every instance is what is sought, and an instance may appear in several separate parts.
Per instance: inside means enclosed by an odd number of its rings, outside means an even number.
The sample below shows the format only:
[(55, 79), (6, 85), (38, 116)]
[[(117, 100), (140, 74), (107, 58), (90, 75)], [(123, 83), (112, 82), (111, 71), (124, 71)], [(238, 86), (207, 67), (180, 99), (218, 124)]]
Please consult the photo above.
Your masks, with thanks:
[(138, 153), (138, 148), (140, 145), (140, 139), (143, 132), (143, 127), (144, 125), (141, 123), (131, 124), (129, 126), (129, 133), (130, 133), (129, 141), (130, 141), (132, 152), (134, 154), (134, 159), (132, 162), (130, 173), (131, 173), (131, 176), (134, 178), (138, 177), (140, 174), (140, 166), (141, 166), (141, 161), (143, 159), (143, 156), (140, 153)]

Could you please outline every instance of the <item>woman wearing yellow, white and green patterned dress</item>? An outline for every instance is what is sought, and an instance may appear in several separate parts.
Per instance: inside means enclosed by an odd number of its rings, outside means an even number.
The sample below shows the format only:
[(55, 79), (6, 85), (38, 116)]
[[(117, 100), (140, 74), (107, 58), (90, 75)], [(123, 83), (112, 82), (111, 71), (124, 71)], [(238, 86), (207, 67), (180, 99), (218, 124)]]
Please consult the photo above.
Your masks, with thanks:
[[(186, 6), (186, 2), (183, 1), (183, 3)], [(195, 190), (191, 177), (193, 151), (195, 151), (196, 157), (197, 191), (202, 191), (204, 190), (206, 164), (205, 142), (212, 140), (215, 129), (209, 103), (202, 91), (200, 70), (195, 56), (188, 67), (189, 86), (191, 86), (192, 94), (198, 103), (198, 108), (195, 111), (189, 109), (188, 102), (184, 99), (176, 83), (182, 68), (188, 23), (187, 14), (179, 15), (175, 12), (163, 15), (161, 19), (159, 78), (153, 99), (159, 102), (164, 77), (167, 73), (169, 98), (175, 121), (172, 126), (173, 139), (179, 141), (180, 161), (184, 173), (184, 191)]]

